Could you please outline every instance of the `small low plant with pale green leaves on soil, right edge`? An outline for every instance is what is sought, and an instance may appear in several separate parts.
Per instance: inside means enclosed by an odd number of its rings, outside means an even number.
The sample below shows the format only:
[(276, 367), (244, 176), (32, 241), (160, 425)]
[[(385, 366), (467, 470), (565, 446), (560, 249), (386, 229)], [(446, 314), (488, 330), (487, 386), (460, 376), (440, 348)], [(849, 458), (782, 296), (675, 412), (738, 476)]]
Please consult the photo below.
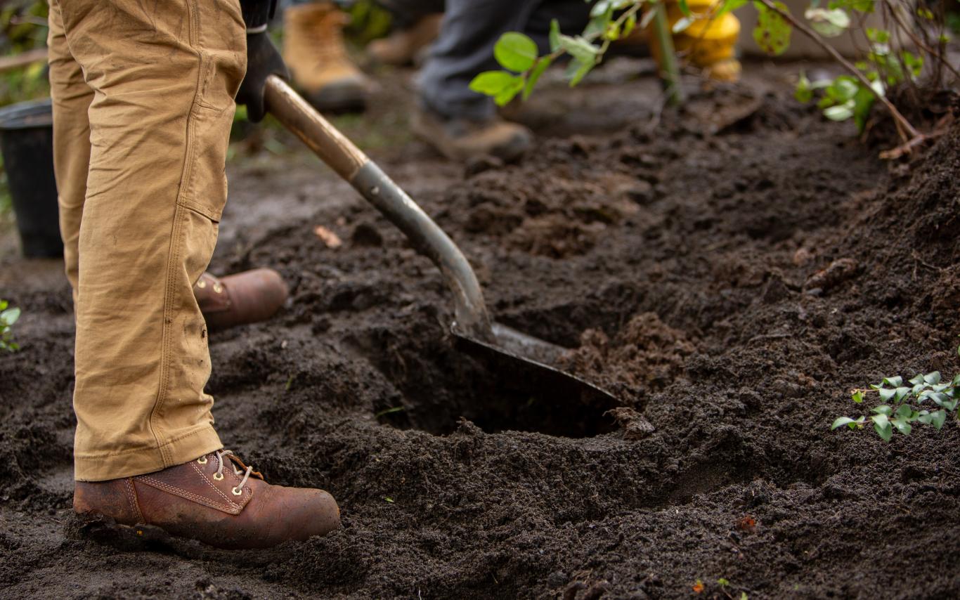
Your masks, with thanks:
[[(910, 385), (904, 385), (900, 376), (884, 377), (880, 383), (871, 385), (869, 389), (851, 391), (852, 400), (857, 404), (872, 394), (876, 394), (883, 402), (871, 409), (873, 414), (869, 420), (874, 425), (876, 435), (884, 442), (890, 442), (894, 429), (908, 436), (914, 423), (922, 423), (933, 425), (939, 431), (949, 415), (956, 418), (957, 404), (960, 403), (960, 374), (945, 382), (940, 372), (928, 372), (918, 374), (907, 383)], [(920, 408), (927, 400), (940, 408), (933, 411)], [(863, 429), (867, 420), (866, 416), (856, 419), (840, 417), (833, 421), (830, 429), (844, 425), (854, 430)]]

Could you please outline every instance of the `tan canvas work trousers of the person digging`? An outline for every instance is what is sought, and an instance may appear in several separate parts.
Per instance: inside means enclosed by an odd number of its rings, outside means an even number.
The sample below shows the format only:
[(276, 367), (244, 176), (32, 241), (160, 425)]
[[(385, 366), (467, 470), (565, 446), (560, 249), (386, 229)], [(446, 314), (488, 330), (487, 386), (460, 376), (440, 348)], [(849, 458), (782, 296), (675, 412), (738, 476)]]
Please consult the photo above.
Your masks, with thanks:
[(49, 20), (74, 475), (102, 481), (222, 447), (192, 287), (227, 202), (245, 28), (237, 0), (51, 0)]

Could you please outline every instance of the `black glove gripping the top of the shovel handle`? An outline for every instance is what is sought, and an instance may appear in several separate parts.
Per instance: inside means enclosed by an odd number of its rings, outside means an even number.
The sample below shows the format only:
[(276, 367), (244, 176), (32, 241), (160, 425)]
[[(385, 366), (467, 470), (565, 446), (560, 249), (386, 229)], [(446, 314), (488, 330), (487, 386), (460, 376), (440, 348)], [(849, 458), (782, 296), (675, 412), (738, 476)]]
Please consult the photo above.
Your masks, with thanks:
[(244, 22), (247, 25), (247, 76), (240, 84), (236, 103), (247, 105), (247, 118), (253, 123), (263, 120), (267, 110), (263, 106), (263, 89), (267, 78), (276, 75), (290, 79), (287, 65), (267, 36), (267, 22), (274, 15), (276, 0), (240, 0)]

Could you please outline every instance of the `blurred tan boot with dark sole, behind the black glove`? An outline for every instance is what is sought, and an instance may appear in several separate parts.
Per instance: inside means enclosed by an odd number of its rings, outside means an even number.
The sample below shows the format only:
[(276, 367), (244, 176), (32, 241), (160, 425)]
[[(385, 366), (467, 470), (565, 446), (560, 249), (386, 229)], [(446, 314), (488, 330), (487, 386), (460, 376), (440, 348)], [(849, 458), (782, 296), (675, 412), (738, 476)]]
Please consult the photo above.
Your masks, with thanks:
[(329, 2), (283, 12), (283, 60), (306, 99), (318, 110), (362, 110), (371, 83), (344, 45), (348, 16)]

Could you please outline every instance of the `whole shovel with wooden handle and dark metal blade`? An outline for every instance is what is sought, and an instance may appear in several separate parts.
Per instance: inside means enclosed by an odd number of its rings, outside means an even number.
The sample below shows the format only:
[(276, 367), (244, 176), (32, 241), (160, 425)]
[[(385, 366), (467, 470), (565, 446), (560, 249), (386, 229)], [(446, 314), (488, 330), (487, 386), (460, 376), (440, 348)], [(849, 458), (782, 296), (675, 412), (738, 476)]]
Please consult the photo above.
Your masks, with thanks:
[(480, 283), (464, 253), (376, 163), (290, 85), (271, 75), (265, 101), (276, 120), (300, 137), (337, 175), (403, 231), (418, 252), (437, 265), (453, 294), (456, 321), (450, 325), (450, 333), (459, 349), (483, 359), (493, 372), (510, 373), (509, 387), (542, 396), (557, 408), (587, 404), (602, 414), (621, 404), (609, 392), (546, 364), (556, 362), (567, 348), (492, 321)]

